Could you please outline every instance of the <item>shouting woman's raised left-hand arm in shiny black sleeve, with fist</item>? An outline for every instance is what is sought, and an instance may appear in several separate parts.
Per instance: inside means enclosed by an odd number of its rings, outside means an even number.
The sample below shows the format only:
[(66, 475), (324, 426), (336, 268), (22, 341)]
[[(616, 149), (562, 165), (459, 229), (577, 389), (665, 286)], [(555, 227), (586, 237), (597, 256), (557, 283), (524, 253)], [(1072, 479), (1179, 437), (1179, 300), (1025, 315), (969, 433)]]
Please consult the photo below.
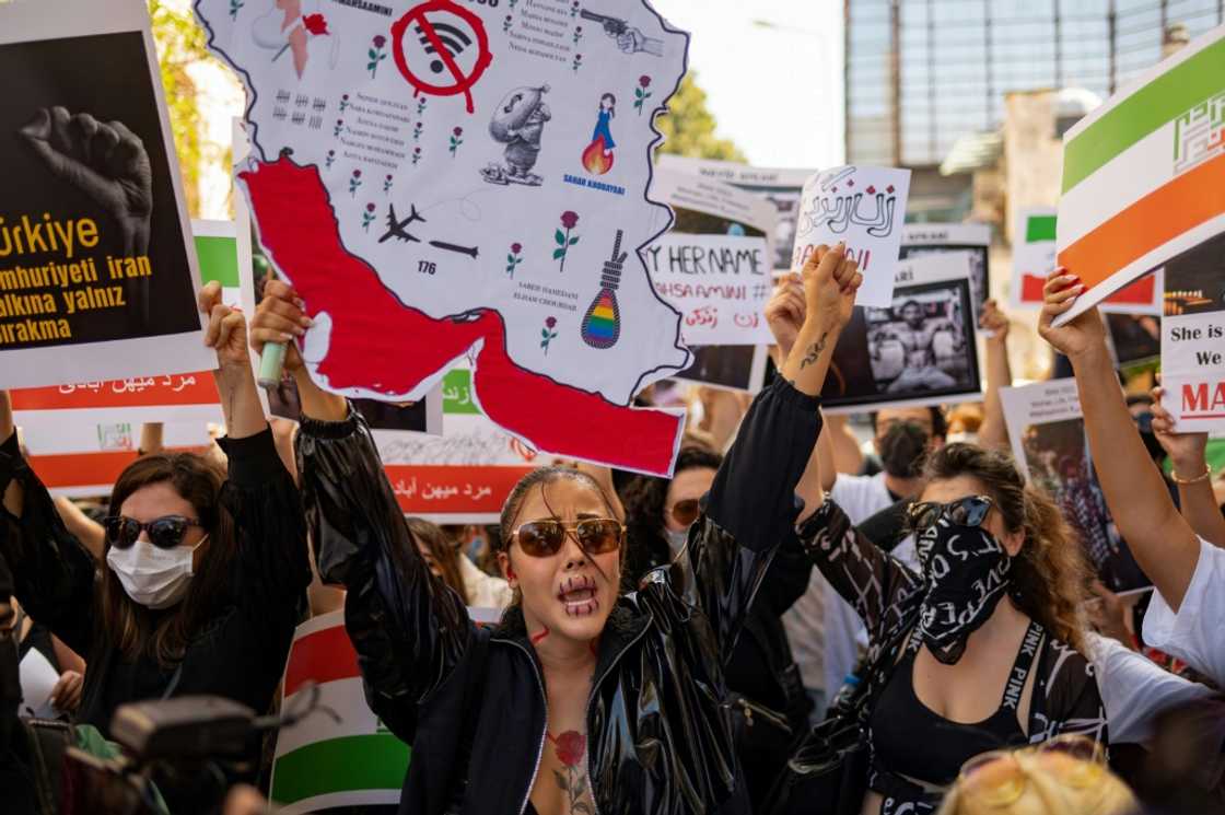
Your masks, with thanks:
[[(299, 303), (289, 286), (268, 282), (252, 322), (256, 351), (301, 336)], [(311, 381), (292, 343), (287, 352), (301, 397), (295, 444), (318, 571), (348, 589), (345, 627), (371, 707), (412, 741), (417, 703), (458, 665), (473, 627), (463, 601), (418, 553), (365, 422)]]

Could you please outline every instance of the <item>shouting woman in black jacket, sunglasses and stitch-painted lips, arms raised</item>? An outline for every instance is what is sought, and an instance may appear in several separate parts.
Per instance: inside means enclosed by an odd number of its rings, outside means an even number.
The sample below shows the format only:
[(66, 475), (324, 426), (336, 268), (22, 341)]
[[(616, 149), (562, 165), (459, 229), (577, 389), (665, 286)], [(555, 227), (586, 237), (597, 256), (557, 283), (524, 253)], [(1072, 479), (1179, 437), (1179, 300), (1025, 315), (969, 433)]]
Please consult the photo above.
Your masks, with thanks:
[[(402, 813), (750, 811), (723, 667), (767, 552), (791, 533), (820, 430), (816, 393), (862, 279), (842, 249), (805, 275), (810, 353), (753, 403), (688, 558), (621, 594), (624, 527), (610, 496), (577, 471), (534, 471), (502, 509), (497, 556), (518, 602), (491, 629), (472, 625), (430, 575), (365, 424), (287, 354), (309, 417), (298, 446), (321, 571), (348, 587), (371, 707), (413, 746)], [(295, 300), (268, 284), (257, 347), (300, 319)]]

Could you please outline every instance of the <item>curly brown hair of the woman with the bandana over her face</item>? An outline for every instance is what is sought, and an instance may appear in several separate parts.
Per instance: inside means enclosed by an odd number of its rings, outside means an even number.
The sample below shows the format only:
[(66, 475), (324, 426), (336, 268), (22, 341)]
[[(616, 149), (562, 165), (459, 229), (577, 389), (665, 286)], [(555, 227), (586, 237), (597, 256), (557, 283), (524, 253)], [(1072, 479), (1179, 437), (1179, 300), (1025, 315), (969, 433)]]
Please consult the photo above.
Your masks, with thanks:
[(1052, 636), (1084, 652), (1080, 607), (1088, 599), (1088, 561), (1072, 527), (1051, 498), (1025, 484), (1012, 456), (971, 444), (951, 444), (927, 457), (924, 476), (947, 480), (968, 476), (995, 499), (1009, 532), (1024, 533), (1012, 566), (1017, 607)]

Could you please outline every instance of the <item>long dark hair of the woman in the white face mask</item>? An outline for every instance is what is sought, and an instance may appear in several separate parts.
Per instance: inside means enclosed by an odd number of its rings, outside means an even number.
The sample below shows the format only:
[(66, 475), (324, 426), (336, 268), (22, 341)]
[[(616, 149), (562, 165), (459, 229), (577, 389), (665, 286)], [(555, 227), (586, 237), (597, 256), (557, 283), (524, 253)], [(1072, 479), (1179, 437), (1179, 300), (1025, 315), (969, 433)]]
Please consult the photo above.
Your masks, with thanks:
[[(137, 458), (120, 473), (110, 494), (110, 515), (136, 490), (169, 484), (196, 510), (208, 538), (187, 594), (167, 613), (154, 613), (127, 596), (111, 569), (103, 569), (100, 625), (129, 659), (149, 656), (167, 667), (183, 658), (187, 642), (212, 616), (233, 581), (230, 564), (238, 549), (234, 520), (221, 505), (224, 473), (203, 456), (160, 453)], [(107, 544), (109, 550), (110, 544)]]

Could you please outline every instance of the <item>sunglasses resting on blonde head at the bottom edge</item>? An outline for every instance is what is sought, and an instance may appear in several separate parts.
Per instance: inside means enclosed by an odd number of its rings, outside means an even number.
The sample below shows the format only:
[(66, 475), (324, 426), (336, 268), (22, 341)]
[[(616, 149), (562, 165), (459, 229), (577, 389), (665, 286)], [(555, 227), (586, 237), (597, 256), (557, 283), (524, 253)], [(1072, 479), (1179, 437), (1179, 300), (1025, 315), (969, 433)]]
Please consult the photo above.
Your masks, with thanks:
[(1065, 734), (1033, 748), (974, 756), (962, 765), (962, 794), (992, 808), (1014, 804), (1029, 784), (1029, 775), (1020, 764), (1029, 756), (1074, 789), (1087, 789), (1105, 777), (1106, 754), (1101, 745), (1079, 734)]

